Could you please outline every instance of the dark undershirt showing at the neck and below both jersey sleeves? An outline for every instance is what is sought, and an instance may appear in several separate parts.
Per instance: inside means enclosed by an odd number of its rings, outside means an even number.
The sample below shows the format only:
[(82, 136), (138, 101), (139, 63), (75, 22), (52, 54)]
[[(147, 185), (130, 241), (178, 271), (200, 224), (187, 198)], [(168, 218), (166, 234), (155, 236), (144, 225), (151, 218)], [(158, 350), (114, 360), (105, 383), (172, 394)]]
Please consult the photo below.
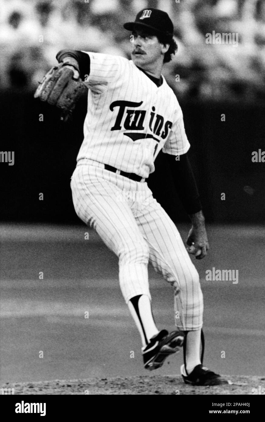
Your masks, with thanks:
[[(90, 57), (88, 54), (77, 50), (61, 50), (56, 55), (58, 62), (62, 62), (64, 57), (73, 57), (78, 61), (80, 78), (82, 80), (85, 79), (85, 75), (89, 75)], [(163, 84), (162, 76), (160, 76), (160, 78), (155, 78), (154, 76), (146, 73), (145, 70), (139, 67), (138, 69), (145, 73), (145, 75), (150, 78), (157, 87), (160, 87)], [(201, 211), (201, 201), (187, 153), (180, 155), (179, 160), (176, 160), (174, 155), (166, 154), (166, 160), (172, 171), (177, 194), (187, 214), (191, 215)]]

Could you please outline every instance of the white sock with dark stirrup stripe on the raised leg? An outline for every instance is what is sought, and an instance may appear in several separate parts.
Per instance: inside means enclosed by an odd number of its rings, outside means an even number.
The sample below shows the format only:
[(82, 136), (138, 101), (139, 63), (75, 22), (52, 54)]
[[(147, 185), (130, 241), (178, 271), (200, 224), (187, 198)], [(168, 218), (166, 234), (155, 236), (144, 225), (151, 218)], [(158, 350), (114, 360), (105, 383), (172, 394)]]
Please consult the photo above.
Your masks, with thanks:
[(152, 314), (151, 302), (147, 295), (139, 295), (128, 302), (131, 315), (141, 335), (143, 347), (147, 346), (150, 338), (158, 334)]

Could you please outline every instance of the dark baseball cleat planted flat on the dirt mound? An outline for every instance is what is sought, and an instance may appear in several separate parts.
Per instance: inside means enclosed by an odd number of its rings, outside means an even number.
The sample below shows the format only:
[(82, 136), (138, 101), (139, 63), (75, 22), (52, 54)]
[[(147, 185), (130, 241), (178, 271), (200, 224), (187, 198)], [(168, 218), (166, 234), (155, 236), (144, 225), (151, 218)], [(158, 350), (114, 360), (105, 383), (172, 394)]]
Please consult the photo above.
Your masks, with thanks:
[(220, 375), (210, 371), (206, 366), (202, 364), (195, 366), (190, 375), (187, 375), (185, 371), (185, 365), (180, 367), (180, 373), (184, 379), (185, 384), (191, 385), (220, 385), (228, 384), (228, 381), (221, 378)]

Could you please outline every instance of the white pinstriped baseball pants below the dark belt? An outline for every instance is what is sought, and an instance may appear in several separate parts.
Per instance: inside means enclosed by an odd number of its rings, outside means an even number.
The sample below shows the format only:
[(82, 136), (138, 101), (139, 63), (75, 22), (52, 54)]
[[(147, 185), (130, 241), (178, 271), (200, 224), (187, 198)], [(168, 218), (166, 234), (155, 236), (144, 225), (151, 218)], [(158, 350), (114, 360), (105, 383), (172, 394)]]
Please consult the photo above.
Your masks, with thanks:
[(201, 328), (203, 295), (198, 272), (177, 227), (147, 183), (105, 170), (101, 163), (80, 160), (71, 189), (79, 218), (94, 227), (119, 258), (119, 282), (126, 303), (137, 295), (151, 299), (149, 261), (174, 288), (178, 329)]

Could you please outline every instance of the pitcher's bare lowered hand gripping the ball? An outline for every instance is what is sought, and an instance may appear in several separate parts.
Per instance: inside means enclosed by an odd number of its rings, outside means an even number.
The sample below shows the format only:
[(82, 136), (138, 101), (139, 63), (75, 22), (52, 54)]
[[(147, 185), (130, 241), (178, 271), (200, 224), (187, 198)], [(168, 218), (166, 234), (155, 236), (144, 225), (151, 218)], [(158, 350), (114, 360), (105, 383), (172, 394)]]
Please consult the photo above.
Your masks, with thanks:
[(191, 227), (187, 238), (187, 245), (187, 252), (195, 255), (196, 260), (202, 260), (207, 255), (209, 243), (204, 224)]

